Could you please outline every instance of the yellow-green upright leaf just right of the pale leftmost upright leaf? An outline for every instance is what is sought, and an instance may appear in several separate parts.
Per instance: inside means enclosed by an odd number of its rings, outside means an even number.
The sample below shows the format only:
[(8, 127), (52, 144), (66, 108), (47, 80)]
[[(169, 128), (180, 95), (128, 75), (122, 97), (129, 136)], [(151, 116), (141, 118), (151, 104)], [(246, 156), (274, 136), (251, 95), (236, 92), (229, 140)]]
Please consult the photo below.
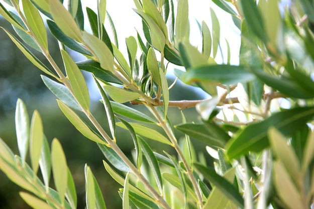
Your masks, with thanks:
[(43, 124), (37, 110), (34, 111), (30, 130), (30, 155), (34, 173), (38, 171), (38, 162), (43, 145)]

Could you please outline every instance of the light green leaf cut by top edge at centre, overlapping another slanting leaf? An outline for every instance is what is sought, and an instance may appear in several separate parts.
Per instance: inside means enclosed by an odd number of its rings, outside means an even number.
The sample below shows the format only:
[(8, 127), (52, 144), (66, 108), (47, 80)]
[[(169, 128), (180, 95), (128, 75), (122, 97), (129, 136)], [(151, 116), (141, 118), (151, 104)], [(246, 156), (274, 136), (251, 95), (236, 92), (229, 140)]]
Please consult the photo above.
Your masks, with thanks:
[(156, 6), (154, 5), (154, 3), (151, 0), (142, 0), (142, 3), (143, 3), (144, 12), (154, 20), (154, 22), (158, 25), (158, 27), (163, 32), (166, 39), (168, 39), (167, 26), (161, 14), (157, 10)]

